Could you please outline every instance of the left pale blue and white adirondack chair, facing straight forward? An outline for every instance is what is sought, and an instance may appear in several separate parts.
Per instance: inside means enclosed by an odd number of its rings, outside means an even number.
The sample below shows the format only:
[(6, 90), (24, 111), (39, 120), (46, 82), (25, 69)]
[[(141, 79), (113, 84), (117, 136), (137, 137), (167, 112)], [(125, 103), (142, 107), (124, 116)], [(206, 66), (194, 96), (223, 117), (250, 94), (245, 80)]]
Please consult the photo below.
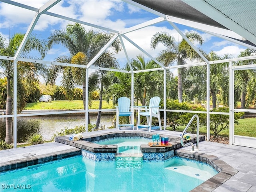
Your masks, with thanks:
[[(127, 97), (120, 97), (117, 100), (118, 106), (116, 106), (116, 127), (119, 130), (120, 127), (130, 126), (134, 130), (133, 122), (133, 109), (130, 106), (131, 100)], [(119, 124), (119, 116), (130, 116), (130, 124)]]

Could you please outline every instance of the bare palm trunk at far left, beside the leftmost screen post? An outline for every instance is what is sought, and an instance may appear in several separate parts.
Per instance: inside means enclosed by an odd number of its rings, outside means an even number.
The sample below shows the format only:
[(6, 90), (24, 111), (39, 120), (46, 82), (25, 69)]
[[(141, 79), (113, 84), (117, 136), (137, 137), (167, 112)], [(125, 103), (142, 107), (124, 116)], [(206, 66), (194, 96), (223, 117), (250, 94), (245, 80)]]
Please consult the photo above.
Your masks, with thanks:
[[(10, 86), (10, 77), (7, 77), (7, 87), (6, 87), (6, 115), (12, 114), (12, 95), (11, 95), (11, 86)], [(6, 118), (6, 135), (5, 135), (5, 142), (12, 143), (13, 136), (12, 136), (12, 117)]]

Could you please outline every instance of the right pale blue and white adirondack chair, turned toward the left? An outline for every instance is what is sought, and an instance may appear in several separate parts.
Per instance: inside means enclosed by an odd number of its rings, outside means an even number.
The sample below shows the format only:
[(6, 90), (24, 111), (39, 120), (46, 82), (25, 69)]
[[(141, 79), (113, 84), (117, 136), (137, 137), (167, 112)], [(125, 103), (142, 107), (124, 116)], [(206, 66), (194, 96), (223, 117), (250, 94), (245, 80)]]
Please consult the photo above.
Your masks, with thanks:
[[(160, 97), (153, 97), (149, 100), (149, 106), (136, 106), (138, 107), (138, 120), (137, 120), (137, 129), (139, 128), (148, 128), (149, 132), (152, 128), (152, 117), (158, 118), (159, 130), (162, 130), (161, 126), (161, 118), (159, 112), (159, 104), (160, 104)], [(140, 116), (146, 116), (147, 118), (147, 125), (141, 125), (140, 123)], [(155, 126), (158, 127), (158, 126)]]

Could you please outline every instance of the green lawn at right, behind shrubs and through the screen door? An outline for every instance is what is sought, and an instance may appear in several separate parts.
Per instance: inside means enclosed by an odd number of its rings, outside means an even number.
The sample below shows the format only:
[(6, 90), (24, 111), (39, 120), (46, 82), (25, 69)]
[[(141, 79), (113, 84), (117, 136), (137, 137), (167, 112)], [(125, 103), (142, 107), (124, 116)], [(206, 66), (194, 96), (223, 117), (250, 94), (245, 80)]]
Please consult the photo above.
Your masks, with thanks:
[[(256, 137), (256, 118), (246, 118), (246, 119), (239, 119), (239, 124), (235, 124), (235, 135), (240, 136), (248, 136), (248, 137)], [(179, 126), (176, 131), (182, 132), (185, 126)], [(172, 130), (172, 128), (166, 128), (167, 130)], [(188, 132), (192, 132), (190, 128), (188, 128)], [(196, 130), (195, 132), (196, 133)], [(206, 127), (199, 128), (200, 134), (206, 134)], [(210, 131), (211, 135), (214, 135), (212, 131)], [(229, 129), (222, 130), (218, 136), (229, 137)]]

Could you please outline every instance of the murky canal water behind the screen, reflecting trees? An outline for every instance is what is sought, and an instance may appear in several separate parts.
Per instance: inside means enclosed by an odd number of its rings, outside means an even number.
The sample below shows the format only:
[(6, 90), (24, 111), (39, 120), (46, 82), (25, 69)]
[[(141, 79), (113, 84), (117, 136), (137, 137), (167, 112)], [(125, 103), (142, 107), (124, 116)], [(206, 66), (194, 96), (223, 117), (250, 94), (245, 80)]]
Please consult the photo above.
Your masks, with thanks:
[[(96, 124), (97, 115), (90, 115), (90, 123)], [(0, 118), (0, 138), (5, 140), (6, 118)], [(113, 116), (102, 115), (100, 127), (112, 126)], [(65, 127), (74, 128), (84, 126), (84, 114), (78, 115), (51, 115), (51, 116), (29, 116), (17, 118), (17, 142), (27, 142), (33, 133), (39, 133), (44, 140), (50, 140), (54, 133), (60, 132)]]

